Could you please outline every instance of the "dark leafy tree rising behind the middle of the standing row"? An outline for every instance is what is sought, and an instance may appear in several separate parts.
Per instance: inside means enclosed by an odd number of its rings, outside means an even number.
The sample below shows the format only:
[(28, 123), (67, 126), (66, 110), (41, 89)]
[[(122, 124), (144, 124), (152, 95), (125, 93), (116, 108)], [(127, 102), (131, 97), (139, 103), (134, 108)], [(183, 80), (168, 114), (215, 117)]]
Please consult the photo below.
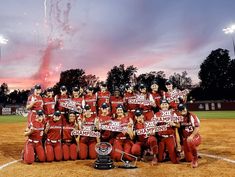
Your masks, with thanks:
[(114, 66), (109, 72), (107, 77), (108, 89), (112, 92), (114, 87), (122, 87), (125, 83), (129, 83), (134, 74), (137, 72), (137, 68), (133, 65), (125, 68), (124, 64)]

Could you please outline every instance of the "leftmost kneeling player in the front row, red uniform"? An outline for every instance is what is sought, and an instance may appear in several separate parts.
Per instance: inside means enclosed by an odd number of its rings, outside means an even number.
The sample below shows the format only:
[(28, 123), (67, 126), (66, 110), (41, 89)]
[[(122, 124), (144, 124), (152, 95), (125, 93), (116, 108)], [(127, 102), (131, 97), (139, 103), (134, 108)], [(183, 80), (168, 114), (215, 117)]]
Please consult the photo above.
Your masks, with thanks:
[(32, 164), (35, 161), (35, 155), (40, 162), (45, 161), (45, 152), (42, 145), (42, 137), (44, 130), (44, 114), (42, 110), (38, 110), (36, 118), (32, 121), (29, 127), (25, 130), (24, 135), (28, 139), (24, 147), (24, 162)]

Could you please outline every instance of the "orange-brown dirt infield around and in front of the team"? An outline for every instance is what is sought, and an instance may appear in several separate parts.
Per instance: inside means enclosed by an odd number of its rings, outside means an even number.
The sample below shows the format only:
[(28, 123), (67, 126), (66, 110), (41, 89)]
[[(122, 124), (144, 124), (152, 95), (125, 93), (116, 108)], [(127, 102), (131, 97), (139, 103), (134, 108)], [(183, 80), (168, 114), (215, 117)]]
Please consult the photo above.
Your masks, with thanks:
[[(23, 131), (25, 123), (0, 124), (0, 167), (18, 160), (25, 138)], [(201, 135), (203, 142), (199, 151), (203, 154), (215, 155), (235, 160), (235, 119), (202, 119)], [(137, 169), (95, 170), (93, 161), (67, 161), (53, 163), (34, 163), (26, 165), (21, 162), (0, 168), (0, 177), (59, 177), (59, 176), (234, 176), (235, 163), (221, 159), (202, 156), (199, 167), (192, 169), (189, 163), (171, 164), (160, 163), (150, 166), (148, 163), (138, 162)]]

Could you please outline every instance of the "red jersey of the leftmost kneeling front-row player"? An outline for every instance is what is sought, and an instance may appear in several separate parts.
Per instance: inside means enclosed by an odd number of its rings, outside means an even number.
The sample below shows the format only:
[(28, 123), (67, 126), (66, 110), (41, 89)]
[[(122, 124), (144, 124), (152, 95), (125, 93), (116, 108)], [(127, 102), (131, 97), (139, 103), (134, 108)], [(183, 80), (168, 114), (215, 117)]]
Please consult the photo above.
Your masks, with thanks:
[(33, 127), (34, 131), (32, 134), (29, 135), (29, 139), (41, 141), (43, 136), (43, 130), (44, 130), (44, 123), (33, 121), (30, 123), (29, 128)]

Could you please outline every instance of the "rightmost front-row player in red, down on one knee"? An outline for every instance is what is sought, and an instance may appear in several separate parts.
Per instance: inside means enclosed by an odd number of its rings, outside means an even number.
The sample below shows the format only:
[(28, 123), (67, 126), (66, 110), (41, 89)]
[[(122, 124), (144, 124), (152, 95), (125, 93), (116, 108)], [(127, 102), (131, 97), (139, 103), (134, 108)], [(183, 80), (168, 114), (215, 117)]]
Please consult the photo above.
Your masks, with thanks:
[(184, 118), (180, 123), (180, 132), (183, 137), (185, 159), (191, 162), (193, 168), (196, 168), (198, 166), (197, 146), (201, 144), (200, 121), (196, 115), (188, 112), (184, 104), (178, 105), (178, 111)]

